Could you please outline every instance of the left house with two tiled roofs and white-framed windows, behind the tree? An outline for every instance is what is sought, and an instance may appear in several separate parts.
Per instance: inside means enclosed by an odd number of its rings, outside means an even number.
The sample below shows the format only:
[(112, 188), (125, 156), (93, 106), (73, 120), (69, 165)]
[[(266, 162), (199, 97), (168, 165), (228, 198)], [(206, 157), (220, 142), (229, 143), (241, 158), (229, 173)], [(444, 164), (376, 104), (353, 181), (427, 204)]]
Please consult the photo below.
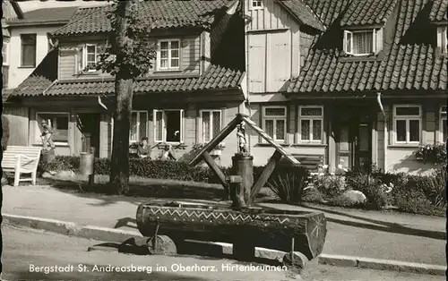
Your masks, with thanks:
[[(97, 157), (110, 156), (114, 78), (89, 70), (108, 44), (109, 9), (79, 8), (53, 33), (58, 48), (14, 90), (12, 98), (30, 108), (30, 145), (40, 145), (45, 119), (55, 129), (56, 154), (79, 155), (92, 146)], [(165, 143), (180, 158), (194, 144), (210, 141), (241, 109), (244, 30), (229, 29), (242, 21), (226, 13), (226, 0), (147, 1), (140, 9), (151, 26), (157, 59), (151, 72), (134, 82), (130, 138), (159, 144), (153, 158)], [(225, 145), (236, 149), (236, 142), (229, 138)], [(223, 150), (222, 155), (235, 152)]]

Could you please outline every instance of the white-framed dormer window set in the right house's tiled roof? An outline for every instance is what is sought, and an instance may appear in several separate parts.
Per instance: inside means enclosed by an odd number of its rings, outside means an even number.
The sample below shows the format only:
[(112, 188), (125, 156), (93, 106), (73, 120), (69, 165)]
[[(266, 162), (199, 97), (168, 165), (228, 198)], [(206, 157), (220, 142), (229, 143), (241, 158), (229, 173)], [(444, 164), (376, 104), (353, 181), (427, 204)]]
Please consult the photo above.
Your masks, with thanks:
[(375, 55), (381, 44), (381, 30), (344, 30), (344, 51), (347, 55)]

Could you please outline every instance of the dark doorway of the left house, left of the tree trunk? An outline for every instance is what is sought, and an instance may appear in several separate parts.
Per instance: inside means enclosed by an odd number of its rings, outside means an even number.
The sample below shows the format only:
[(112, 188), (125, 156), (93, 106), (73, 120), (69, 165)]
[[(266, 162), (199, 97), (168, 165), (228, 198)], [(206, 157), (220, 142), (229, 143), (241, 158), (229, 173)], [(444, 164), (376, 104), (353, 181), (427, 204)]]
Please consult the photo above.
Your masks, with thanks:
[(82, 133), (81, 152), (89, 152), (95, 148), (94, 156), (99, 157), (99, 114), (79, 114), (77, 125)]

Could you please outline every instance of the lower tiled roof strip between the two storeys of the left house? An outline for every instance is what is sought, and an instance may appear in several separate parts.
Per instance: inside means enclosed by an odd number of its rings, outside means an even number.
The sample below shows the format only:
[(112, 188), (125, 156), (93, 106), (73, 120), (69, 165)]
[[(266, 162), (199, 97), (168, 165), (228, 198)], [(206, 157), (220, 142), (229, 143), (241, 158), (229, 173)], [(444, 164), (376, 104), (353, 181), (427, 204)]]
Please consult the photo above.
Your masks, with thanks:
[[(134, 93), (195, 92), (206, 89), (235, 89), (243, 73), (218, 65), (211, 65), (201, 76), (160, 79), (157, 77), (137, 79)], [(56, 80), (56, 79), (55, 79)], [(55, 81), (53, 80), (53, 81)], [(51, 87), (50, 87), (51, 86)], [(14, 90), (14, 96), (81, 96), (111, 95), (115, 92), (113, 78), (103, 80), (56, 81), (41, 75), (31, 75)]]

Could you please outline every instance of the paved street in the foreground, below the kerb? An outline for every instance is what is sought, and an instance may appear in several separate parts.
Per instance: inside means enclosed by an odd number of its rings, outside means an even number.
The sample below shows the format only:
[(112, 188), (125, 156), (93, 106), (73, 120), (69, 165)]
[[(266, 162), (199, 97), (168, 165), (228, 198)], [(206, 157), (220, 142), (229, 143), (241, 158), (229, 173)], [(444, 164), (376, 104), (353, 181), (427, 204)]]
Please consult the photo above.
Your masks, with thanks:
[[(3, 226), (4, 235), (4, 274), (3, 280), (302, 280), (302, 277), (291, 277), (289, 272), (274, 271), (225, 271), (224, 267), (237, 265), (234, 260), (216, 260), (202, 257), (166, 257), (166, 256), (135, 256), (108, 251), (86, 251), (91, 245), (97, 244), (82, 238), (69, 237), (61, 234), (45, 233), (39, 230)], [(120, 266), (132, 267), (134, 272), (98, 272), (102, 267)], [(179, 266), (202, 267), (208, 271), (186, 271)], [(34, 267), (55, 266), (63, 272), (47, 272), (52, 268), (42, 268), (44, 272), (30, 272)], [(70, 268), (73, 266), (73, 268)], [(85, 266), (85, 267), (84, 267)], [(139, 268), (140, 267), (140, 268)], [(148, 273), (146, 270), (152, 271)], [(157, 272), (156, 268), (163, 269)], [(216, 270), (212, 272), (213, 268)], [(82, 270), (80, 270), (82, 269)], [(126, 269), (126, 268), (125, 268)], [(143, 272), (136, 272), (140, 269)], [(177, 272), (174, 272), (178, 269)], [(36, 271), (34, 269), (33, 271)], [(68, 272), (64, 272), (68, 271)], [(305, 280), (398, 280), (398, 281), (436, 281), (443, 277), (417, 276), (412, 274), (389, 271), (376, 271), (357, 268), (337, 268), (330, 266), (315, 266), (310, 264), (303, 274)]]

